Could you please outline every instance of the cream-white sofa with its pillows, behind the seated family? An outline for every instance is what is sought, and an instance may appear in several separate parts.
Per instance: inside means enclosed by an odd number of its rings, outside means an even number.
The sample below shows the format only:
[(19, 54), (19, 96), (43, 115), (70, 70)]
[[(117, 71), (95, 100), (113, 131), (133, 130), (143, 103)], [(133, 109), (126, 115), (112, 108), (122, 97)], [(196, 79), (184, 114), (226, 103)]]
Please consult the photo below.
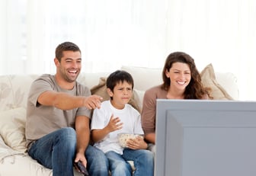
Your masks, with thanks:
[[(144, 91), (162, 82), (162, 69), (123, 66), (123, 70), (133, 75), (136, 94), (135, 101), (142, 107)], [(100, 78), (106, 78), (109, 72), (82, 72), (78, 81), (89, 88), (98, 86)], [(232, 73), (214, 73), (213, 66), (206, 66), (201, 72), (203, 85), (213, 89), (214, 99), (238, 100), (238, 86)], [(24, 138), (26, 122), (27, 94), (30, 84), (38, 75), (0, 75), (0, 175), (46, 176), (52, 175), (27, 155)], [(102, 79), (101, 79), (102, 81)], [(101, 82), (102, 84), (102, 82)], [(97, 90), (96, 90), (97, 92)], [(102, 93), (102, 92), (101, 92)], [(80, 175), (74, 171), (75, 175)]]

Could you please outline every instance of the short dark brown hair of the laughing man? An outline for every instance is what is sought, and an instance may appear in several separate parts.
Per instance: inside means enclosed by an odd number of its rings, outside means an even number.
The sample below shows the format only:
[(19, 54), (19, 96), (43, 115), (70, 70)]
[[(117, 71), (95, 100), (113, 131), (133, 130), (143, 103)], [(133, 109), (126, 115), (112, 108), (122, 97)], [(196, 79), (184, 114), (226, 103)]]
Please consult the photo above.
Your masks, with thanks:
[(60, 43), (55, 50), (55, 57), (59, 60), (59, 62), (61, 61), (61, 58), (63, 56), (63, 51), (74, 51), (74, 52), (79, 51), (81, 53), (81, 50), (75, 43), (72, 43), (72, 42)]

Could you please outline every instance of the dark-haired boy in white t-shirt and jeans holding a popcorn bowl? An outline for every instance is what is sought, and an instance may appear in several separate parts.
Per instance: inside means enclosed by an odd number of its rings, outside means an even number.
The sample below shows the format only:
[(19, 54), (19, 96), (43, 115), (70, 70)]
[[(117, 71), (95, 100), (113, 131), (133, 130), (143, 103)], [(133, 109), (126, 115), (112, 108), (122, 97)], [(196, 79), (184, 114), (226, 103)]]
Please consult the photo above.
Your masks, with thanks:
[(126, 161), (133, 161), (136, 170), (133, 175), (154, 174), (154, 154), (146, 150), (144, 139), (137, 137), (120, 146), (118, 133), (143, 134), (140, 114), (128, 102), (133, 95), (133, 77), (130, 73), (117, 70), (107, 78), (107, 93), (110, 101), (104, 101), (95, 109), (91, 120), (91, 137), (94, 146), (101, 149), (109, 160), (112, 176), (132, 175), (132, 168)]

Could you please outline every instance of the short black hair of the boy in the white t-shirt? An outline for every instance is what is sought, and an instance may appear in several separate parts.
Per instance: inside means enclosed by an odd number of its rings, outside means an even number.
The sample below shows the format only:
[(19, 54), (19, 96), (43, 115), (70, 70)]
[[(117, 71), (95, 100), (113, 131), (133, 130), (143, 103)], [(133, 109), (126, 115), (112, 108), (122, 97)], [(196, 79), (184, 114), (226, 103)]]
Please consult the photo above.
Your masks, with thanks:
[(114, 87), (119, 83), (119, 82), (128, 82), (129, 84), (132, 85), (132, 88), (134, 86), (133, 83), (133, 76), (130, 75), (129, 72), (123, 71), (123, 70), (117, 70), (116, 72), (112, 72), (108, 77), (107, 77), (107, 88), (110, 88), (111, 91), (114, 91)]

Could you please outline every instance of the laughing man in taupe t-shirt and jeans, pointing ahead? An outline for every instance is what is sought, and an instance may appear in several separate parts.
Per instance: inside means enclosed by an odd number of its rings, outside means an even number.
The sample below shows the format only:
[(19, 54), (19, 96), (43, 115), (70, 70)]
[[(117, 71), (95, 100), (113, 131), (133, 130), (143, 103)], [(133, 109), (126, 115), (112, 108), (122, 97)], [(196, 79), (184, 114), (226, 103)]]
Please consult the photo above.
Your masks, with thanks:
[(73, 163), (81, 161), (90, 175), (108, 175), (107, 158), (88, 145), (91, 109), (101, 97), (76, 82), (81, 50), (75, 43), (56, 47), (56, 75), (41, 75), (30, 88), (27, 100), (26, 139), (28, 154), (53, 176), (72, 176)]

